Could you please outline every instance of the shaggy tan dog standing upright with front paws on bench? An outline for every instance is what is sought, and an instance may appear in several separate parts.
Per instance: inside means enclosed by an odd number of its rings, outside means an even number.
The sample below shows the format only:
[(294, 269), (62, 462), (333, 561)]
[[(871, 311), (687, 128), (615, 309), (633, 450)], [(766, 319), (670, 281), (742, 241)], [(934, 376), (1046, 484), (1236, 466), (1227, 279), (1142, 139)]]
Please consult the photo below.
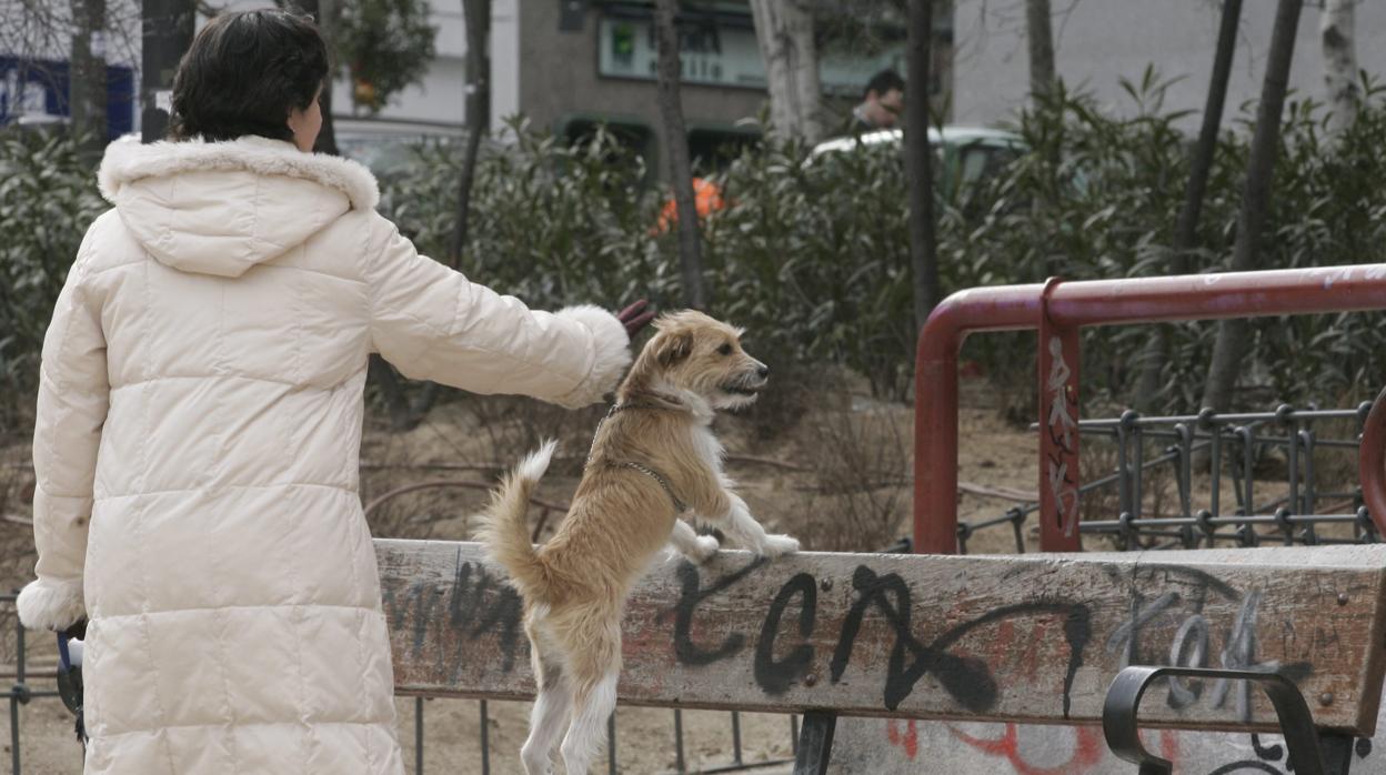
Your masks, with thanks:
[(496, 492), (481, 539), (510, 571), (525, 603), (525, 634), (539, 696), (521, 749), (525, 772), (553, 772), (563, 738), (568, 775), (588, 771), (615, 707), (621, 614), (631, 586), (667, 543), (701, 563), (718, 548), (681, 514), (715, 525), (764, 556), (798, 550), (766, 535), (722, 474), (712, 435), (718, 409), (746, 406), (769, 369), (747, 355), (740, 331), (700, 312), (665, 315), (597, 427), (582, 481), (557, 534), (529, 543), (525, 506), (549, 466), (547, 442)]

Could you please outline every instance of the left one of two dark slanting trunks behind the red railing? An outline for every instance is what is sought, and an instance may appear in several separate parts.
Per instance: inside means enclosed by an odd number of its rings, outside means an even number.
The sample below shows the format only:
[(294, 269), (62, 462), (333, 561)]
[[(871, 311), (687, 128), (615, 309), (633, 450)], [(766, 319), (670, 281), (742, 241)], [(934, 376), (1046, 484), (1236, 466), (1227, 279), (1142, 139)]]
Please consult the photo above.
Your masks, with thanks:
[[(1218, 25), (1217, 50), (1213, 54), (1213, 78), (1209, 80), (1209, 98), (1203, 105), (1203, 126), (1189, 159), (1189, 180), (1184, 187), (1184, 207), (1174, 223), (1170, 272), (1188, 275), (1193, 272), (1191, 251), (1198, 245), (1199, 220), (1203, 216), (1203, 195), (1207, 193), (1209, 172), (1213, 169), (1213, 154), (1217, 150), (1217, 136), (1222, 126), (1222, 107), (1227, 103), (1227, 82), (1232, 73), (1232, 54), (1236, 53), (1236, 28), (1242, 21), (1242, 0), (1224, 0), (1222, 21)], [(1160, 365), (1164, 362), (1166, 327), (1150, 329), (1150, 338), (1139, 356), (1141, 383), (1135, 405), (1142, 412), (1149, 410), (1160, 391)]]

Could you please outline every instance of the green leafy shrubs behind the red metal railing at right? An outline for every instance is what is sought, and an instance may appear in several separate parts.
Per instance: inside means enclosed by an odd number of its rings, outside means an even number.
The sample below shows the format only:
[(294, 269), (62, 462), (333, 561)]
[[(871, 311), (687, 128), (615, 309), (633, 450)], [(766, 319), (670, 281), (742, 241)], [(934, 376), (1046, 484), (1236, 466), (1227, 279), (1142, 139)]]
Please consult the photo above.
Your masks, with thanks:
[[(1386, 90), (1364, 85), (1361, 114), (1336, 141), (1324, 133), (1325, 111), (1311, 100), (1288, 105), (1277, 159), (1271, 212), (1261, 236), (1263, 269), (1386, 261)], [(1170, 272), (1170, 244), (1188, 176), (1189, 141), (1161, 112), (1164, 85), (1152, 73), (1127, 85), (1145, 110), (1112, 118), (1082, 96), (1059, 93), (1026, 112), (1017, 132), (1031, 148), (992, 183), (992, 214), (962, 230), (945, 219), (944, 258), (1005, 275), (977, 272), (976, 284), (1138, 277)], [(1198, 234), (1195, 272), (1229, 265), (1246, 175), (1250, 115), (1220, 139)], [(1027, 207), (1016, 207), (1026, 202)], [(997, 256), (1003, 256), (997, 262)], [(1383, 334), (1378, 315), (1260, 319), (1243, 365), (1243, 403), (1337, 402), (1380, 383)], [(1198, 408), (1216, 326), (1173, 327), (1163, 363), (1163, 405)], [(1092, 329), (1084, 336), (1085, 397), (1130, 401), (1134, 356), (1146, 327)], [(1013, 354), (1012, 354), (1013, 356)], [(998, 358), (998, 362), (1005, 359)], [(1368, 387), (1374, 392), (1374, 387)]]

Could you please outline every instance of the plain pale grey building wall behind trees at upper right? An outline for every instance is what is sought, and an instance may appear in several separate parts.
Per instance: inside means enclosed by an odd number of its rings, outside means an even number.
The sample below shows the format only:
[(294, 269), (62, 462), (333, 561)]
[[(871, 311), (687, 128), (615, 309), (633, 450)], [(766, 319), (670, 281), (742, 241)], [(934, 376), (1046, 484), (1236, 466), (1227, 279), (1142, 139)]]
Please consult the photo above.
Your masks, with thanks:
[[(1222, 4), (1216, 0), (1052, 0), (1055, 67), (1070, 89), (1089, 92), (1100, 107), (1131, 114), (1121, 79), (1139, 82), (1153, 65), (1171, 79), (1164, 108), (1192, 111), (1182, 126), (1198, 130), (1207, 98)], [(1300, 14), (1290, 89), (1324, 100), (1318, 25), (1322, 3)], [(1357, 65), (1386, 75), (1386, 3), (1356, 6)], [(1228, 80), (1224, 119), (1261, 96), (1275, 0), (1246, 0)], [(992, 125), (1013, 118), (1030, 98), (1024, 0), (955, 0), (954, 118)], [(1231, 123), (1231, 122), (1227, 122)]]

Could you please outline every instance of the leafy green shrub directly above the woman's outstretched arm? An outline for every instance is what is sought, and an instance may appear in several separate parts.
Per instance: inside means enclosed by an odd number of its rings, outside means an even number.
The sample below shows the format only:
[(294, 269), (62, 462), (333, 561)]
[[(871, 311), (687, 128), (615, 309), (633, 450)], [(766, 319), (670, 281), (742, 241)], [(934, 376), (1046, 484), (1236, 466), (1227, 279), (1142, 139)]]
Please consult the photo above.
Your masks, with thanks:
[[(482, 155), (471, 193), (460, 269), (525, 302), (615, 306), (636, 294), (661, 304), (678, 293), (676, 263), (663, 259), (642, 189), (639, 157), (597, 132), (568, 147), (511, 125), (509, 147)], [(385, 186), (385, 214), (428, 255), (446, 255), (457, 201), (456, 147), (416, 148), (414, 173)]]

